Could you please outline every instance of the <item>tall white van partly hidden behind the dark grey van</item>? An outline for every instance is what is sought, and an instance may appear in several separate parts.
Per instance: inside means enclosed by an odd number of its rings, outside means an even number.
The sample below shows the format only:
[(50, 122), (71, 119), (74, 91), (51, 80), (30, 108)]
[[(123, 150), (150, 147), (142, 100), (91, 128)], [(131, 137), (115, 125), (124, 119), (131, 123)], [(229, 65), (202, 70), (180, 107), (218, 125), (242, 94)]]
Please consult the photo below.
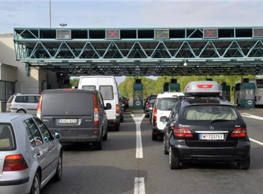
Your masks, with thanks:
[(120, 104), (118, 85), (114, 76), (82, 76), (78, 89), (99, 90), (104, 100), (104, 106), (107, 103), (112, 105), (110, 110), (106, 110), (108, 124), (114, 125), (115, 130), (120, 128)]

